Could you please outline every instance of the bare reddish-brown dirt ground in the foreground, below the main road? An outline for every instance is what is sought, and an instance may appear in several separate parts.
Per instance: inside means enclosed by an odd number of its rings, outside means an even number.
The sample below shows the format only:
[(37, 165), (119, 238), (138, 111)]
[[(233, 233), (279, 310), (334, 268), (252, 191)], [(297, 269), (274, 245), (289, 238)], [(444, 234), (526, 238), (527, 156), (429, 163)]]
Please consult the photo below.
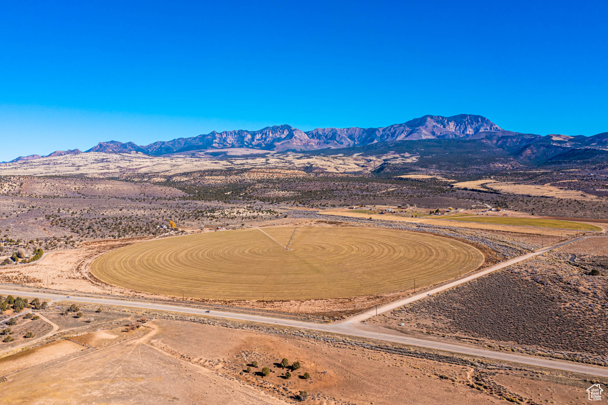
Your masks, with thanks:
[[(70, 303), (58, 304), (66, 308)], [(590, 385), (572, 374), (334, 335), (213, 318), (180, 321), (171, 313), (136, 313), (121, 307), (104, 308), (99, 315), (93, 309), (80, 308), (85, 317), (100, 317), (92, 324), (59, 315), (55, 308), (44, 312), (61, 324), (64, 332), (58, 337), (69, 336), (71, 341), (1, 358), (0, 404), (287, 404), (303, 390), (308, 393), (306, 403), (318, 405), (476, 405), (505, 398), (527, 404), (582, 404)], [(142, 315), (159, 319), (125, 327)], [(299, 361), (300, 369), (283, 368), (282, 358), (289, 364)], [(270, 370), (266, 377), (263, 367)], [(303, 378), (304, 373), (310, 377)]]

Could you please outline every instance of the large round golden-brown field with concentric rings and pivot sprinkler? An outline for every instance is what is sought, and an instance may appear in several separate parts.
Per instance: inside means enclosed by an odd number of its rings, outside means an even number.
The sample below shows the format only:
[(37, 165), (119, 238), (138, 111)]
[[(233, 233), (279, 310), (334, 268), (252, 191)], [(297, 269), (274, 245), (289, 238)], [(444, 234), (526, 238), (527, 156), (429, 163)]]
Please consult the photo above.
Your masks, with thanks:
[[(475, 270), (483, 254), (426, 233), (272, 227), (156, 239), (103, 254), (95, 277), (148, 293), (209, 299), (323, 299), (407, 290)], [(292, 239), (290, 250), (285, 250)]]

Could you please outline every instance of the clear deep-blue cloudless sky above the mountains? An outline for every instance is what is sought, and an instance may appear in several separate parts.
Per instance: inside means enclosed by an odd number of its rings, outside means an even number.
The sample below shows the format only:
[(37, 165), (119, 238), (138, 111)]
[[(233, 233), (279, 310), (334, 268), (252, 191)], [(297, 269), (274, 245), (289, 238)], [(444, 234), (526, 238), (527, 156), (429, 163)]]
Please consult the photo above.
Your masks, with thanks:
[(536, 134), (608, 131), (606, 1), (0, 7), (0, 160), (425, 114), (480, 114)]

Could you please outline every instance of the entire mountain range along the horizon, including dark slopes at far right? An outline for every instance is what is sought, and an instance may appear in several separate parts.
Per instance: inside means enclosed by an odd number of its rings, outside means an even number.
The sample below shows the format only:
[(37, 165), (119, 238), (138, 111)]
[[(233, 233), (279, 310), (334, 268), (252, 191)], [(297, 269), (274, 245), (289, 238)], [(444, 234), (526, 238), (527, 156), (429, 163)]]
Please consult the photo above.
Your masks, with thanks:
[[(505, 131), (481, 115), (460, 114), (452, 117), (424, 115), (402, 124), (382, 128), (316, 128), (301, 131), (290, 125), (268, 126), (258, 131), (210, 132), (191, 138), (156, 141), (149, 145), (133, 142), (100, 142), (86, 152), (131, 153), (166, 155), (202, 149), (252, 148), (265, 151), (314, 151), (318, 149), (353, 148), (377, 143), (419, 140), (471, 140), (491, 144), (508, 154), (527, 160), (544, 160), (566, 149), (604, 149), (608, 146), (608, 132), (585, 137), (577, 135), (535, 135)], [(491, 140), (491, 141), (490, 141)], [(488, 145), (489, 145), (488, 144)], [(29, 155), (11, 162), (43, 157), (83, 153), (78, 149), (56, 151), (50, 155)]]

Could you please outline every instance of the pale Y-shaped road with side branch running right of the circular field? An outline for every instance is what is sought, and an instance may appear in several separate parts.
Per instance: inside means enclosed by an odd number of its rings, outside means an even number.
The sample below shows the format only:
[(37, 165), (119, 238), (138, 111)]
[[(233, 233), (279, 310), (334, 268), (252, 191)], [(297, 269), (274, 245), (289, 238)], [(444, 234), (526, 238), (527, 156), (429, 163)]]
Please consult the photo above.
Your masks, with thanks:
[[(473, 274), (472, 276), (464, 277), (463, 279), (451, 282), (449, 284), (443, 285), (441, 287), (435, 288), (430, 291), (425, 291), (424, 293), (417, 294), (415, 296), (411, 296), (406, 299), (402, 299), (400, 301), (393, 302), (391, 304), (384, 305), (378, 308), (378, 314), (383, 312), (387, 312), (393, 310), (401, 305), (408, 304), (409, 302), (418, 301), (427, 296), (427, 294), (438, 293), (439, 291), (446, 290), (447, 288), (455, 287), (458, 284), (463, 284), (465, 282), (471, 281), (477, 277), (485, 276), (486, 274), (491, 273), (492, 271), (499, 270), (503, 267), (515, 264), (522, 260), (530, 259), (530, 257), (534, 257), (538, 254), (543, 254), (547, 251), (553, 250), (555, 248), (562, 247), (567, 245), (568, 243), (576, 242), (581, 239), (585, 239), (586, 237), (593, 236), (584, 236), (579, 237), (573, 240), (569, 240), (564, 243), (559, 243), (558, 245), (554, 245), (551, 247), (546, 247), (537, 250), (533, 253), (527, 253), (519, 257), (515, 257), (510, 260), (506, 260), (505, 262), (499, 263), (492, 267), (487, 268), (484, 271), (480, 271), (479, 273)], [(61, 299), (65, 300), (65, 296), (60, 294), (51, 294), (51, 293), (41, 293), (35, 292), (32, 290), (0, 290), (0, 294), (24, 294), (29, 297), (38, 297), (45, 299), (52, 299), (54, 301), (60, 301)], [(556, 370), (564, 370), (568, 372), (578, 372), (585, 373), (596, 376), (604, 376), (608, 377), (608, 368), (607, 367), (599, 367), (599, 366), (589, 366), (587, 364), (570, 362), (570, 361), (559, 361), (553, 359), (547, 359), (536, 356), (527, 356), (522, 354), (514, 354), (514, 353), (506, 353), (506, 352), (495, 352), (493, 350), (485, 350), (478, 349), (474, 346), (469, 345), (460, 345), (454, 344), (452, 342), (442, 342), (432, 339), (419, 339), (412, 338), (409, 336), (404, 336), (399, 332), (389, 330), (389, 329), (377, 329), (372, 330), (368, 328), (364, 323), (365, 319), (371, 318), (371, 316), (375, 315), (375, 310), (373, 313), (368, 311), (367, 313), (361, 313), (356, 316), (352, 316), (345, 321), (342, 322), (333, 322), (331, 324), (316, 324), (313, 322), (302, 322), (295, 321), (291, 319), (282, 319), (282, 318), (272, 318), (268, 316), (261, 315), (249, 315), (243, 313), (233, 313), (228, 311), (216, 311), (212, 310), (209, 313), (206, 312), (203, 308), (194, 308), (194, 307), (184, 307), (179, 305), (170, 305), (170, 304), (157, 304), (155, 302), (148, 302), (144, 300), (131, 300), (131, 299), (120, 299), (120, 298), (93, 298), (93, 297), (79, 297), (72, 296), (69, 298), (69, 301), (80, 301), (80, 302), (91, 302), (94, 304), (104, 304), (104, 305), (122, 305), (125, 307), (134, 307), (134, 308), (143, 308), (148, 310), (160, 310), (160, 311), (173, 311), (179, 313), (186, 314), (196, 314), (196, 315), (208, 315), (214, 316), (216, 318), (228, 318), (228, 319), (240, 319), (241, 321), (250, 321), (250, 322), (260, 322), (263, 324), (271, 324), (277, 326), (286, 326), (286, 327), (294, 327), (299, 329), (308, 329), (308, 330), (317, 330), (319, 332), (329, 332), (329, 333), (339, 333), (341, 335), (355, 336), (358, 338), (367, 338), (367, 339), (377, 339), (384, 340), (389, 342), (396, 342), (401, 344), (414, 345), (418, 347), (424, 347), (426, 349), (437, 349), (437, 350), (445, 350), (447, 352), (453, 353), (461, 353), (465, 355), (485, 357), (489, 359), (497, 359), (502, 361), (512, 361), (519, 362), (522, 364), (528, 364), (529, 366), (537, 366), (537, 367), (548, 367), (550, 369)], [(378, 331), (381, 332), (378, 332)]]

